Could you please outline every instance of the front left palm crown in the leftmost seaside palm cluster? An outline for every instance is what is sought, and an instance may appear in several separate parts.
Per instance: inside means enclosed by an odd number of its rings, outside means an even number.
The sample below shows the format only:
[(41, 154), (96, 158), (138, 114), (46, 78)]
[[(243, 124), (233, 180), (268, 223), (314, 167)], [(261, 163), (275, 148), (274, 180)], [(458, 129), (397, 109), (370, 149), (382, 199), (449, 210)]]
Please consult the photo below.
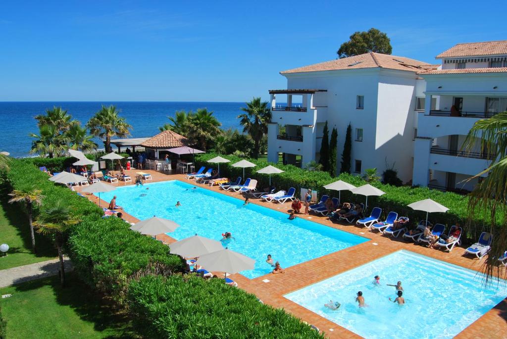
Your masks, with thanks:
[(67, 136), (60, 134), (55, 125), (41, 125), (39, 134), (29, 133), (34, 138), (29, 151), (30, 154), (38, 153), (40, 156), (49, 158), (60, 157), (67, 150)]

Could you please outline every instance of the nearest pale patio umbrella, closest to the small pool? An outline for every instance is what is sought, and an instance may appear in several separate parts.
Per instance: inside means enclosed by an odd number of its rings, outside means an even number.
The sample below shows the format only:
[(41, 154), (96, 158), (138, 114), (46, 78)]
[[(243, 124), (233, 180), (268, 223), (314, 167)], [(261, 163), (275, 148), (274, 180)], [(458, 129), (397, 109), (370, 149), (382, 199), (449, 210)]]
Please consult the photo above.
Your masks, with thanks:
[(226, 247), (220, 251), (201, 255), (196, 264), (208, 271), (224, 272), (225, 277), (227, 277), (227, 273), (234, 274), (245, 270), (253, 270), (255, 260)]

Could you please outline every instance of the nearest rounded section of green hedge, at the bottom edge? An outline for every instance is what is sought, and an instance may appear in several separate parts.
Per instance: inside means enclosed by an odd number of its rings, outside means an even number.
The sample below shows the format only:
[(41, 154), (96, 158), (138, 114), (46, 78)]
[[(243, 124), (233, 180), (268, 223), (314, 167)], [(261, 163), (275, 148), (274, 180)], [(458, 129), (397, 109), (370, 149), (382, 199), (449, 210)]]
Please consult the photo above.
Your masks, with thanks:
[(142, 277), (129, 301), (139, 323), (154, 320), (151, 338), (322, 338), (282, 309), (262, 305), (253, 294), (221, 279), (195, 275)]

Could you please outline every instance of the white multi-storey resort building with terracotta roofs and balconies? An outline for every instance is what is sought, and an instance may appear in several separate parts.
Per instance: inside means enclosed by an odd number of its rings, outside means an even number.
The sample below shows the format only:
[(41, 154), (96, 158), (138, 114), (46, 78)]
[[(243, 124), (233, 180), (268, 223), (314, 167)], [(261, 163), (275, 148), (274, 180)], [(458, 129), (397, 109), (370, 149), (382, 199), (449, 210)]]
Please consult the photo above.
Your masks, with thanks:
[(330, 134), (338, 130), (339, 170), (350, 123), (352, 173), (394, 167), (404, 182), (472, 189), (476, 181), (461, 181), (491, 155), (462, 152), (461, 143), (478, 119), (507, 109), (507, 41), (459, 44), (437, 59), (367, 53), (280, 72), (287, 89), (269, 91), (268, 160), (318, 161), (328, 121)]

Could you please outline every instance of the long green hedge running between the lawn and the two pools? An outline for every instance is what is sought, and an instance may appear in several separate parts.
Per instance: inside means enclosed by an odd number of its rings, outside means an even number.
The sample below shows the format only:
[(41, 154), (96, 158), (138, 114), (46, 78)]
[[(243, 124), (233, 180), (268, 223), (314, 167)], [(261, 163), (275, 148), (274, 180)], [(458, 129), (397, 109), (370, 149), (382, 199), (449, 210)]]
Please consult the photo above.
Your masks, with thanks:
[(13, 161), (8, 190), (29, 181), (41, 188), (45, 201), (63, 199), (74, 207), (81, 221), (68, 235), (66, 253), (75, 271), (133, 313), (147, 337), (323, 338), (297, 318), (222, 280), (182, 278), (185, 262), (169, 254), (168, 246), (132, 232), (119, 218), (102, 218), (98, 206), (49, 181), (33, 159)]

